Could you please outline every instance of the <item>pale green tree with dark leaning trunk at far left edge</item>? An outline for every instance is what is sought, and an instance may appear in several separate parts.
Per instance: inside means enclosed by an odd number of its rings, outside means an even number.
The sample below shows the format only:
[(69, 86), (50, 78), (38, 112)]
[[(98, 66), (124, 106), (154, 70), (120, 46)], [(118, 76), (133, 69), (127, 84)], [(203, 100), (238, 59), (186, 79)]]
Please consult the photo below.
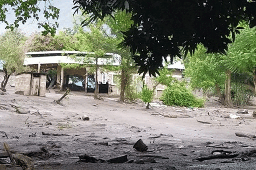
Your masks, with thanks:
[(2, 91), (6, 91), (5, 87), (11, 74), (23, 70), (25, 51), (22, 42), (24, 40), (24, 34), (17, 29), (8, 30), (0, 37), (0, 62), (4, 72), (4, 79), (1, 82)]

